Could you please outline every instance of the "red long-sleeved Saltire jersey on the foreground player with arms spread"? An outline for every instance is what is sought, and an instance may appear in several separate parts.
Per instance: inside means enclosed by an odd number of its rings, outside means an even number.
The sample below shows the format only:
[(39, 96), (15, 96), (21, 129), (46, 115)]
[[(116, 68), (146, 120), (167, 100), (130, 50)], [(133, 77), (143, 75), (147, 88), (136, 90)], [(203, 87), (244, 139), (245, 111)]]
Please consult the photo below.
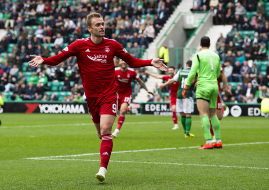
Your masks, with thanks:
[(76, 56), (86, 97), (103, 97), (118, 90), (115, 81), (114, 56), (123, 59), (131, 67), (151, 66), (152, 60), (132, 57), (116, 40), (104, 38), (98, 44), (90, 37), (71, 43), (57, 56), (42, 58), (45, 64), (57, 65)]

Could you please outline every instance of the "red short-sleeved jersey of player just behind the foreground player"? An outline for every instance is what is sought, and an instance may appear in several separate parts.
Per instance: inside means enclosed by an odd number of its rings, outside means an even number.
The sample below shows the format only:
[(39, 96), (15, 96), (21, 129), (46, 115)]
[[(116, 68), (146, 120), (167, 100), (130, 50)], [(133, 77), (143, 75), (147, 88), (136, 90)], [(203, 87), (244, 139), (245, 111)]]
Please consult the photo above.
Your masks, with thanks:
[(132, 94), (132, 79), (139, 79), (138, 75), (135, 73), (133, 68), (127, 68), (126, 72), (122, 72), (120, 67), (115, 68), (115, 79), (119, 85), (118, 94)]

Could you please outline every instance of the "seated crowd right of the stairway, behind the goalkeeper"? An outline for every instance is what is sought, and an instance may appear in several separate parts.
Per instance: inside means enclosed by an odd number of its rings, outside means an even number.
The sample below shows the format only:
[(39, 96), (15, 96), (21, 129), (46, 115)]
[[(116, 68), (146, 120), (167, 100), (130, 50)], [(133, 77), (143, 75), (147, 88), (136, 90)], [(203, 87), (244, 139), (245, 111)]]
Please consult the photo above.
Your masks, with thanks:
[(215, 25), (232, 25), (219, 36), (216, 53), (233, 96), (225, 102), (257, 103), (269, 97), (269, 4), (266, 1), (194, 0), (191, 11), (209, 11)]

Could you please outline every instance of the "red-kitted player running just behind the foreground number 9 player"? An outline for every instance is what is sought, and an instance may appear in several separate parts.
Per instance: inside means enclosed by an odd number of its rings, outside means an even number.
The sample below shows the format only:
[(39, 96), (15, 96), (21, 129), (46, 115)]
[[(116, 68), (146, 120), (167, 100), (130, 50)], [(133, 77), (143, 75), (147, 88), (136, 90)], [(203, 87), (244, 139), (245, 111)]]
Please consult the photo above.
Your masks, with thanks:
[(118, 124), (115, 131), (112, 133), (112, 136), (117, 137), (121, 126), (125, 120), (125, 114), (127, 113), (128, 106), (132, 100), (132, 79), (136, 80), (142, 88), (144, 88), (148, 93), (155, 96), (153, 92), (146, 88), (145, 83), (138, 77), (133, 68), (127, 67), (126, 62), (124, 60), (119, 60), (119, 67), (115, 68), (115, 79), (119, 85), (118, 88), (118, 108), (119, 108), (119, 117)]

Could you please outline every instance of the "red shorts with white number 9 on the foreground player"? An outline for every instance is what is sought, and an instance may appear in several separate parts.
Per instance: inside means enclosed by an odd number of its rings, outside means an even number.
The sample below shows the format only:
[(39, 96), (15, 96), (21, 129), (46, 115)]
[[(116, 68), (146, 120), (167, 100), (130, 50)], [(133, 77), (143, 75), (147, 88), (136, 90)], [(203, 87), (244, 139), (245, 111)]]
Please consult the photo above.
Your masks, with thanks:
[(112, 93), (105, 97), (87, 97), (87, 106), (93, 123), (100, 123), (100, 116), (104, 114), (117, 115), (118, 94)]

